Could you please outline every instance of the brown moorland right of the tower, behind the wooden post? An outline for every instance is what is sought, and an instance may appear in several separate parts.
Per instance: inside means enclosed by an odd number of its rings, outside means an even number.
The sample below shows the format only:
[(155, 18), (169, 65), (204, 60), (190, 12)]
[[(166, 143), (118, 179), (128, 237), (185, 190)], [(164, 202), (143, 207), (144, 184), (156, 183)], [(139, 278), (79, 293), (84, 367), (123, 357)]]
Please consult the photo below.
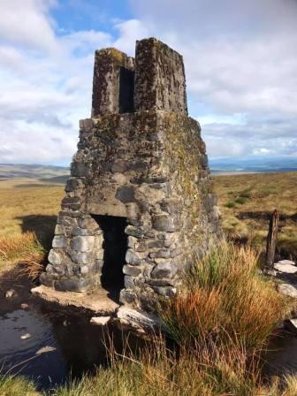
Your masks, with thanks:
[(297, 172), (213, 177), (225, 232), (265, 247), (270, 213), (281, 212), (278, 254), (297, 258)]

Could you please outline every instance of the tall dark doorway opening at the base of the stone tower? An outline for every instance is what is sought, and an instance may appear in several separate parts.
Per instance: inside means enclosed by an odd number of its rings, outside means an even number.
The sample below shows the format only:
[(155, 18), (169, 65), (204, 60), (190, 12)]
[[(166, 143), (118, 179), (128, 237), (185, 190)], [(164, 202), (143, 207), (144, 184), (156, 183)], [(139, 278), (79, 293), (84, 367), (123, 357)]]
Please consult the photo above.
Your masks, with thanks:
[[(124, 287), (123, 265), (127, 249), (126, 217), (94, 216), (103, 230), (103, 270), (101, 284), (115, 297)], [(117, 295), (116, 295), (117, 294)]]

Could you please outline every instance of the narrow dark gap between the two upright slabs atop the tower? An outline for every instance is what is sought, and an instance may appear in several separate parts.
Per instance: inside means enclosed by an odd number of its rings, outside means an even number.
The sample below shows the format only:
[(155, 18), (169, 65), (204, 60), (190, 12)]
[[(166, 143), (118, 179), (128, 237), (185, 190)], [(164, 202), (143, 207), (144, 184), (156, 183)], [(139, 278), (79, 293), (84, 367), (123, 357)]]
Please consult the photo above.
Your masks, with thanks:
[(119, 69), (119, 103), (120, 113), (134, 112), (134, 71), (120, 67)]

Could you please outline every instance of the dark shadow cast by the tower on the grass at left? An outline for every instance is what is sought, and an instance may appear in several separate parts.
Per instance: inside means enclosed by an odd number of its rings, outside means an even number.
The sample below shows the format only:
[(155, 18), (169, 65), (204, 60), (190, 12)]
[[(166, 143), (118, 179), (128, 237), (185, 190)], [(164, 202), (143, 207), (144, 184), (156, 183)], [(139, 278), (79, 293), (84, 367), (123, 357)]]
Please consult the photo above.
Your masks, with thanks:
[(42, 244), (42, 247), (46, 250), (50, 250), (57, 223), (57, 216), (28, 215), (16, 218), (21, 220), (22, 232), (34, 232), (37, 240)]

